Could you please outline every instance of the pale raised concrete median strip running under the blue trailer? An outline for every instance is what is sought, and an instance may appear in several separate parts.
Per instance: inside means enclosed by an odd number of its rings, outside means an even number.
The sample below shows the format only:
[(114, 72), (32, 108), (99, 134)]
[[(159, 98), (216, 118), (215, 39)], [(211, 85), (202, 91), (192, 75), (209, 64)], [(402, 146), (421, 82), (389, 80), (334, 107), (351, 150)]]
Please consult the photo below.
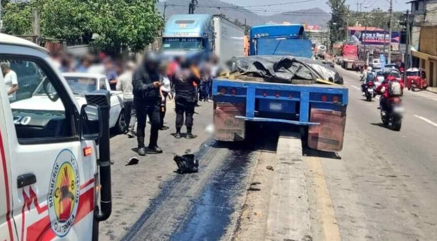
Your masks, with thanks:
[(267, 239), (312, 239), (304, 168), (300, 135), (281, 132), (267, 217)]

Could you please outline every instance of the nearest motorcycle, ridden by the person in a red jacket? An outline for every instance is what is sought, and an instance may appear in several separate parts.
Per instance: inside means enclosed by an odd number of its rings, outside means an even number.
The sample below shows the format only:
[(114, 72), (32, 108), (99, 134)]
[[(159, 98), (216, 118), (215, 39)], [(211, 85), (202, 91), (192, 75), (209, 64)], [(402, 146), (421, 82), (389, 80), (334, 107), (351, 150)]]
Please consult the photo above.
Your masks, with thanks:
[(381, 120), (385, 126), (394, 131), (400, 131), (402, 126), (403, 106), (399, 97), (392, 97), (387, 101), (387, 110), (379, 107), (381, 110)]

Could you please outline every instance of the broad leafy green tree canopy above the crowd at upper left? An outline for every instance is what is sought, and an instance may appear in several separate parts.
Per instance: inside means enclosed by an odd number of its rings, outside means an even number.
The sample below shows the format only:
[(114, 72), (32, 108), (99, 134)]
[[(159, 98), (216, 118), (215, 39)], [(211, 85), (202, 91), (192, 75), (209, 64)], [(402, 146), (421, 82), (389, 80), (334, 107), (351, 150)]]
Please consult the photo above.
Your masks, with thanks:
[(5, 32), (32, 32), (32, 8), (40, 10), (44, 37), (82, 40), (113, 53), (140, 51), (158, 35), (163, 19), (154, 0), (30, 0), (8, 3)]

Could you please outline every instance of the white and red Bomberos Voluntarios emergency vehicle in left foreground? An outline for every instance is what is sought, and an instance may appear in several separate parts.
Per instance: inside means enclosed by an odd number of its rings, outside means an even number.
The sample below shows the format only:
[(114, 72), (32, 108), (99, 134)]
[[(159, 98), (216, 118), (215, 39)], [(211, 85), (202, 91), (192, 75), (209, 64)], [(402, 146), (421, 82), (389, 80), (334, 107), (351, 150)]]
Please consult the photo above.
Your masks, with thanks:
[[(0, 34), (0, 62), (23, 87), (10, 100), (0, 73), (0, 240), (96, 240), (111, 214), (109, 93), (80, 107), (47, 50), (13, 36)], [(40, 84), (61, 108), (11, 108)]]

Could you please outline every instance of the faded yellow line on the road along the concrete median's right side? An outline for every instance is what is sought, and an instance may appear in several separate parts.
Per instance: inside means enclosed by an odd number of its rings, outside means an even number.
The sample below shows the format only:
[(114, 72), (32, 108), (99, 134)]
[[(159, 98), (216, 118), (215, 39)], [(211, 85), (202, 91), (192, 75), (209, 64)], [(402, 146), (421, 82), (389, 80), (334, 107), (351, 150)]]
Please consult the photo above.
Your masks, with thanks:
[(304, 157), (306, 163), (307, 175), (314, 181), (311, 187), (315, 189), (316, 205), (320, 213), (320, 222), (323, 227), (324, 240), (341, 240), (338, 221), (335, 217), (334, 205), (329, 194), (328, 185), (326, 184), (325, 174), (321, 159), (318, 157)]

